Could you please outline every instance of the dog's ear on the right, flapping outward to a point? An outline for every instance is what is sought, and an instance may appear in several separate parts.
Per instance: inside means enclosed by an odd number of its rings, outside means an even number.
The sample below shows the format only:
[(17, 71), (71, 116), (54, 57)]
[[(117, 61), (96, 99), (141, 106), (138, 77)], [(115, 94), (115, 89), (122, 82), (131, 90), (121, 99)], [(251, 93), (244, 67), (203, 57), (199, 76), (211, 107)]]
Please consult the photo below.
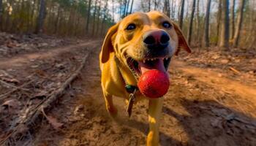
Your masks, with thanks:
[(173, 28), (176, 31), (176, 34), (178, 35), (178, 49), (176, 50), (175, 55), (178, 55), (178, 52), (180, 51), (181, 47), (184, 48), (188, 53), (191, 53), (190, 47), (187, 43), (187, 40), (185, 39), (184, 35), (181, 32), (181, 28), (176, 23), (173, 23)]

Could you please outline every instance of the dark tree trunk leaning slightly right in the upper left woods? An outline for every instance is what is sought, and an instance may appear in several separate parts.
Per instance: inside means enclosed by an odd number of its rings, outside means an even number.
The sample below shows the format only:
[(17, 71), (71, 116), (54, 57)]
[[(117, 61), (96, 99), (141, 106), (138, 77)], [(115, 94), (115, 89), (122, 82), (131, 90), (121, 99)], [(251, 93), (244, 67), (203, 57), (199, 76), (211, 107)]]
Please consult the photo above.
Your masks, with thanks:
[(40, 0), (39, 15), (37, 18), (36, 34), (42, 33), (43, 23), (45, 20), (45, 0)]

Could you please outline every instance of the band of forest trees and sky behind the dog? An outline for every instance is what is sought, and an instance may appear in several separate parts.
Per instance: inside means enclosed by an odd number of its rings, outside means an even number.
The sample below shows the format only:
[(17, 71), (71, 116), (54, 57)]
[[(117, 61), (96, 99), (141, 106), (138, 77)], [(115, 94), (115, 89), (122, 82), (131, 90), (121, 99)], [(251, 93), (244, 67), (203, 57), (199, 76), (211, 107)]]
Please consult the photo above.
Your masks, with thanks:
[(251, 0), (1, 0), (1, 31), (102, 37), (132, 12), (157, 10), (179, 24), (192, 46), (255, 48)]

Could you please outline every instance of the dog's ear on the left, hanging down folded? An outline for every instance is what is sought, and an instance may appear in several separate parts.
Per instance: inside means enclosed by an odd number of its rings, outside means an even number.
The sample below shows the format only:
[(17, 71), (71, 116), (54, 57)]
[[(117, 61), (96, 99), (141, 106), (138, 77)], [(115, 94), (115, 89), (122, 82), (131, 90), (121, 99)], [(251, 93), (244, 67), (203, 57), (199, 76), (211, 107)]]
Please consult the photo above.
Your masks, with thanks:
[(105, 62), (108, 61), (110, 53), (113, 52), (113, 36), (116, 34), (116, 31), (118, 29), (119, 23), (116, 25), (110, 27), (108, 29), (108, 33), (105, 36), (103, 45), (102, 45), (102, 54), (101, 54), (101, 62), (104, 64)]

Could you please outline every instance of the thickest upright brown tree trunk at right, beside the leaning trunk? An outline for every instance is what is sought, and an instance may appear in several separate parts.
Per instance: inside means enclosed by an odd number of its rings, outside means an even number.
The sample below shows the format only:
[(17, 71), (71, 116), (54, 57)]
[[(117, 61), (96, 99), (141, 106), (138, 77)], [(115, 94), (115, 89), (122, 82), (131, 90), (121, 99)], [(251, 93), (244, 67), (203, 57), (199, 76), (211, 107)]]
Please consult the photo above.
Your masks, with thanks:
[(220, 47), (225, 47), (226, 49), (229, 47), (229, 0), (222, 0), (222, 31), (221, 38), (219, 42)]

